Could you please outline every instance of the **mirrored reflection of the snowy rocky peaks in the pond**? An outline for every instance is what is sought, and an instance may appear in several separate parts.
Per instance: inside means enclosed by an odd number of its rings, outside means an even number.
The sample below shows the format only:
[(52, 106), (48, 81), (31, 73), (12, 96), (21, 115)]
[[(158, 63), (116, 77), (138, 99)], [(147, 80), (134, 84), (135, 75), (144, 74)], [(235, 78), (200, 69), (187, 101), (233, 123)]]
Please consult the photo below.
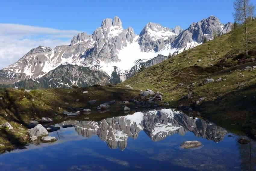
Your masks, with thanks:
[(95, 121), (64, 121), (59, 125), (71, 124), (76, 132), (83, 137), (98, 135), (107, 142), (111, 149), (124, 150), (128, 137), (137, 138), (140, 131), (144, 131), (153, 141), (160, 141), (178, 133), (185, 135), (193, 132), (197, 137), (203, 137), (214, 142), (221, 141), (226, 135), (226, 130), (208, 123), (204, 120), (193, 119), (186, 114), (173, 110), (152, 110), (146, 113), (136, 112), (132, 115), (112, 117)]

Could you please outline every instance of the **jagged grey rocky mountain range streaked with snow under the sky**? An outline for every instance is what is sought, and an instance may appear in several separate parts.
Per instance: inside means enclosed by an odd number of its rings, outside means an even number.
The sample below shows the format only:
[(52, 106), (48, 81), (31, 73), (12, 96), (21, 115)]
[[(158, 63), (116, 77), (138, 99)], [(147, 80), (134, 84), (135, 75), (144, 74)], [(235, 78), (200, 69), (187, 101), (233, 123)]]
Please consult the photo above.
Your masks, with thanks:
[[(69, 87), (72, 84), (86, 86), (91, 85), (88, 82), (89, 79), (82, 78), (89, 71), (98, 73), (95, 74), (93, 82), (109, 83), (111, 79), (114, 79), (111, 78), (114, 75), (118, 77), (115, 80), (119, 81), (113, 82), (118, 83), (132, 76), (134, 67), (138, 70), (138, 67), (143, 64), (148, 64), (147, 67), (149, 67), (166, 59), (158, 58), (159, 54), (168, 56), (169, 53), (180, 53), (184, 48), (188, 49), (201, 44), (204, 36), (207, 39), (212, 39), (215, 33), (225, 34), (231, 28), (232, 23), (224, 25), (220, 23), (219, 19), (211, 16), (192, 23), (186, 30), (179, 26), (170, 29), (149, 22), (141, 33), (136, 35), (131, 27), (123, 29), (122, 22), (117, 16), (113, 20), (107, 18), (102, 21), (101, 27), (98, 27), (92, 35), (79, 33), (74, 36), (70, 45), (61, 45), (54, 49), (43, 46), (31, 49), (17, 62), (0, 70), (0, 83), (12, 84), (26, 79), (40, 82), (47, 78), (49, 86), (53, 87), (60, 84), (65, 85), (64, 87)], [(154, 62), (146, 63), (153, 58)], [(67, 81), (62, 79), (55, 79), (54, 83), (49, 81), (52, 79), (51, 76), (56, 78), (55, 74), (57, 73), (60, 76), (60, 72), (57, 70), (60, 69), (60, 66), (67, 64), (71, 67), (72, 65), (80, 67), (80, 71), (75, 72), (77, 67), (73, 67), (71, 70), (74, 71), (73, 73), (68, 70), (69, 74), (63, 75)], [(51, 73), (49, 73), (50, 71)], [(82, 77), (76, 75), (80, 72), (85, 72)], [(99, 79), (102, 79), (102, 82)]]

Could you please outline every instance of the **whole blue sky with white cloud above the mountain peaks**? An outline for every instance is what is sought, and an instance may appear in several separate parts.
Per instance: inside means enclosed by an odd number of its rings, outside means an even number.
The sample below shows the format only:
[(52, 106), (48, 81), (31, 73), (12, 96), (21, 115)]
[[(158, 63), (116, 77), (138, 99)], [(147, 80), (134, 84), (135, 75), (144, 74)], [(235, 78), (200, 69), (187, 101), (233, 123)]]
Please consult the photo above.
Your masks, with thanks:
[[(256, 4), (255, 0), (251, 2)], [(2, 0), (0, 68), (38, 45), (54, 48), (69, 44), (81, 31), (91, 34), (103, 19), (116, 15), (124, 28), (131, 26), (139, 34), (150, 21), (186, 29), (190, 23), (210, 15), (222, 23), (233, 22), (232, 12), (233, 0)]]

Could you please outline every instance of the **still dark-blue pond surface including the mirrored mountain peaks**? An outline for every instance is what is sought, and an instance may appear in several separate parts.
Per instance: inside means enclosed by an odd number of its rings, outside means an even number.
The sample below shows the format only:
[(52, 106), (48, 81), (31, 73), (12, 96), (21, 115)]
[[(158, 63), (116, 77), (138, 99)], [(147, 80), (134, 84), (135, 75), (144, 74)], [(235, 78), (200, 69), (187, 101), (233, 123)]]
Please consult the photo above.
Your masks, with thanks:
[[(95, 121), (71, 120), (36, 142), (0, 155), (0, 170), (254, 170), (255, 142), (172, 109), (136, 112)], [(184, 141), (203, 145), (181, 149)], [(250, 155), (251, 154), (251, 155)]]

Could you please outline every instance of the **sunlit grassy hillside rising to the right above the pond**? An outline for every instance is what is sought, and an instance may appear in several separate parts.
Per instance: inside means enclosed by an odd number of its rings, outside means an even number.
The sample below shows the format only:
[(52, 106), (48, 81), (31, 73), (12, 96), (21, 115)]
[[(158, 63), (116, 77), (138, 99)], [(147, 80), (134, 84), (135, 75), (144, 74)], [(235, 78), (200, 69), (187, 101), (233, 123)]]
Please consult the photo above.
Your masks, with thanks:
[[(256, 112), (256, 21), (248, 23), (248, 57), (245, 57), (244, 27), (184, 51), (136, 74), (119, 86), (152, 89), (164, 93), (172, 106), (192, 105), (201, 116), (232, 130), (254, 132)], [(200, 61), (201, 60), (201, 61)], [(200, 61), (200, 62), (199, 62)], [(205, 79), (222, 81), (204, 84)], [(182, 86), (178, 86), (182, 83)], [(180, 100), (192, 92), (190, 100)], [(202, 104), (195, 101), (205, 97)], [(254, 123), (254, 124), (252, 124)]]

